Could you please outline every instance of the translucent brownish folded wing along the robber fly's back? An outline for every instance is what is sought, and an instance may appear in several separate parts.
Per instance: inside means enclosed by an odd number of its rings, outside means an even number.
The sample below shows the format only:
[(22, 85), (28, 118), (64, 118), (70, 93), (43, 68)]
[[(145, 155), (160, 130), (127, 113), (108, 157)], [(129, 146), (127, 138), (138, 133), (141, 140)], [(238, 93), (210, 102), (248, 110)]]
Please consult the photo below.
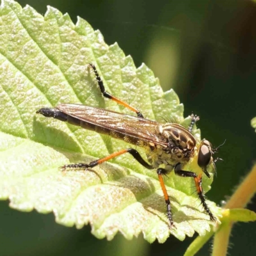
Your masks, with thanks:
[(166, 146), (166, 143), (156, 136), (158, 123), (155, 121), (81, 104), (60, 104), (56, 108), (83, 122), (97, 125), (109, 131), (120, 132), (146, 143), (152, 142)]

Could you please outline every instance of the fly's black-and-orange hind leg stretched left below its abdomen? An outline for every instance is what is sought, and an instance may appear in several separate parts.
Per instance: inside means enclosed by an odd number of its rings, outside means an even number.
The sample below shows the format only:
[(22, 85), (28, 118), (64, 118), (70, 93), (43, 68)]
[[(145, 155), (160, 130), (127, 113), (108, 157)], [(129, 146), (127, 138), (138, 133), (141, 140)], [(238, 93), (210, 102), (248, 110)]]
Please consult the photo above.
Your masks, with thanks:
[(77, 169), (81, 169), (81, 168), (92, 168), (94, 166), (97, 166), (98, 164), (102, 164), (110, 159), (113, 159), (114, 157), (117, 156), (121, 156), (122, 154), (125, 153), (129, 153), (131, 154), (141, 165), (143, 165), (144, 167), (148, 168), (148, 169), (153, 169), (153, 167), (148, 164), (141, 156), (140, 153), (135, 150), (134, 148), (126, 148), (123, 150), (120, 150), (118, 152), (115, 152), (113, 154), (110, 154), (109, 156), (100, 158), (98, 160), (92, 161), (88, 164), (84, 164), (84, 163), (77, 163), (77, 164), (66, 164), (64, 166), (61, 167), (62, 170), (66, 170), (67, 168), (77, 168)]

